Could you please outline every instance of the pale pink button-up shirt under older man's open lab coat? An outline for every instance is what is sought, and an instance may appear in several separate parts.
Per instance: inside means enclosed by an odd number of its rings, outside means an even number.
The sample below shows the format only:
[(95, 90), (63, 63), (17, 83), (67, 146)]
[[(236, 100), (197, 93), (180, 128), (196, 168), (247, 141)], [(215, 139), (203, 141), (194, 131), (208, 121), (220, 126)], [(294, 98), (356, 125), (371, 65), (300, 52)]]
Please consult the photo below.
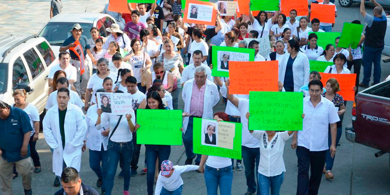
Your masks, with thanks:
[(191, 105), (190, 105), (191, 116), (194, 117), (203, 116), (203, 103), (204, 103), (205, 91), (206, 91), (206, 84), (199, 89), (194, 80), (194, 86), (192, 87)]

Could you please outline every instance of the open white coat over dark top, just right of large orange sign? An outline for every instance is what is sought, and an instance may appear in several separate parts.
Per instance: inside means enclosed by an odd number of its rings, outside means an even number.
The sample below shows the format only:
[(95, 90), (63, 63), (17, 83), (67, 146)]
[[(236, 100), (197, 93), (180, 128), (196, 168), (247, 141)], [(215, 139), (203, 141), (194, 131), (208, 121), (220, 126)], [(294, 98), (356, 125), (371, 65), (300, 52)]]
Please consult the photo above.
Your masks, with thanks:
[[(284, 76), (286, 74), (287, 61), (289, 58), (290, 53), (285, 53), (283, 55), (283, 59), (279, 62), (279, 81), (281, 81), (283, 84)], [(298, 55), (295, 57), (294, 63), (292, 64), (292, 75), (294, 77), (294, 92), (299, 92), (299, 89), (303, 85), (307, 85), (309, 83), (309, 59), (302, 52), (298, 52)]]

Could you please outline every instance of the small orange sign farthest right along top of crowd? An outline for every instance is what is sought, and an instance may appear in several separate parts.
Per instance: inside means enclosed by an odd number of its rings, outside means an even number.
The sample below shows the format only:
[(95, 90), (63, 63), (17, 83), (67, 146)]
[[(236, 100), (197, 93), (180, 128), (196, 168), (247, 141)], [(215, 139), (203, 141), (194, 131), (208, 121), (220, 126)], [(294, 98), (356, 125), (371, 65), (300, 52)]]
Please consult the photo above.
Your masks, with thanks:
[(336, 12), (335, 5), (324, 5), (324, 4), (312, 3), (311, 10), (312, 13), (310, 18), (312, 19), (317, 18), (321, 22), (326, 22), (326, 23), (335, 22), (335, 16), (334, 16), (334, 13)]

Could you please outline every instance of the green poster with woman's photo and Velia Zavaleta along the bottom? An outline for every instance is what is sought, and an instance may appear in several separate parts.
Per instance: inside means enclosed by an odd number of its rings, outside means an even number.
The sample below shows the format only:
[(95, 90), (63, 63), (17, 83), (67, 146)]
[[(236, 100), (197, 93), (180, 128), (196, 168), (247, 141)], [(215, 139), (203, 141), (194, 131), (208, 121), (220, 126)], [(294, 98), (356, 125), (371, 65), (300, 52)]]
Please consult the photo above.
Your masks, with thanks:
[[(207, 135), (208, 129), (215, 127), (213, 141)], [(194, 153), (241, 159), (242, 124), (235, 122), (216, 122), (194, 117)]]

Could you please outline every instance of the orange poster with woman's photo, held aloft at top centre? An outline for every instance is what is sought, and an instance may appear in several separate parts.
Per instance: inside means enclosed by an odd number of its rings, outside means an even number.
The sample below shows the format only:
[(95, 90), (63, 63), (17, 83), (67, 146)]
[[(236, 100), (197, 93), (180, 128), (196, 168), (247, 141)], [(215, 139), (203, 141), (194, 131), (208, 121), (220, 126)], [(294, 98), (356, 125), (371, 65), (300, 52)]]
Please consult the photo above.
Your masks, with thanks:
[(187, 0), (183, 22), (215, 26), (216, 4), (201, 0)]

